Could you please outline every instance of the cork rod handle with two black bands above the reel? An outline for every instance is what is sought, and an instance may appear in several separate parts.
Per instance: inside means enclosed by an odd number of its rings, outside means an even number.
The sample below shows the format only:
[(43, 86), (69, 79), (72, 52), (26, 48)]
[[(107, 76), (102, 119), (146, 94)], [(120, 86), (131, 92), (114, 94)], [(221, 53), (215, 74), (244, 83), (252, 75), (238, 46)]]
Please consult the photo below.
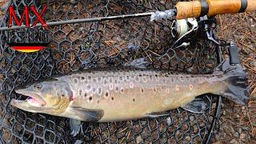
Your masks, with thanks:
[(201, 0), (178, 2), (176, 18), (198, 18), (203, 15), (234, 14), (256, 10), (256, 0)]

